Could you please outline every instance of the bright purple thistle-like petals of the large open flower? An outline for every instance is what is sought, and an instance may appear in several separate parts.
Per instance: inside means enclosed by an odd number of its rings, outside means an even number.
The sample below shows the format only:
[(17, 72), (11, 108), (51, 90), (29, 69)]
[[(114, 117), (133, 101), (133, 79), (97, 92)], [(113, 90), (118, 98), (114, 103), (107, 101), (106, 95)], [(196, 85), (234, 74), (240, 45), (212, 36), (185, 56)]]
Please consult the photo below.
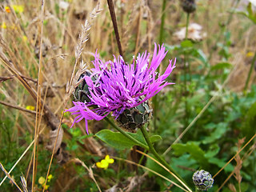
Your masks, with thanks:
[[(96, 51), (92, 73), (90, 76), (83, 77), (89, 86), (90, 94), (87, 97), (90, 98), (90, 102), (73, 102), (74, 106), (66, 111), (77, 114), (74, 122), (85, 119), (87, 134), (89, 134), (88, 120), (99, 121), (110, 112), (112, 116), (118, 118), (124, 110), (138, 106), (158, 94), (164, 86), (174, 84), (166, 82), (165, 79), (174, 70), (176, 59), (173, 65), (169, 60), (170, 64), (164, 74), (156, 73), (166, 54), (167, 51), (163, 45), (160, 47), (154, 44), (151, 62), (150, 54), (145, 52), (142, 55), (138, 54), (138, 58), (132, 64), (127, 65), (122, 56), (114, 57), (113, 62), (102, 62)], [(93, 81), (92, 77), (97, 77), (97, 79)]]

